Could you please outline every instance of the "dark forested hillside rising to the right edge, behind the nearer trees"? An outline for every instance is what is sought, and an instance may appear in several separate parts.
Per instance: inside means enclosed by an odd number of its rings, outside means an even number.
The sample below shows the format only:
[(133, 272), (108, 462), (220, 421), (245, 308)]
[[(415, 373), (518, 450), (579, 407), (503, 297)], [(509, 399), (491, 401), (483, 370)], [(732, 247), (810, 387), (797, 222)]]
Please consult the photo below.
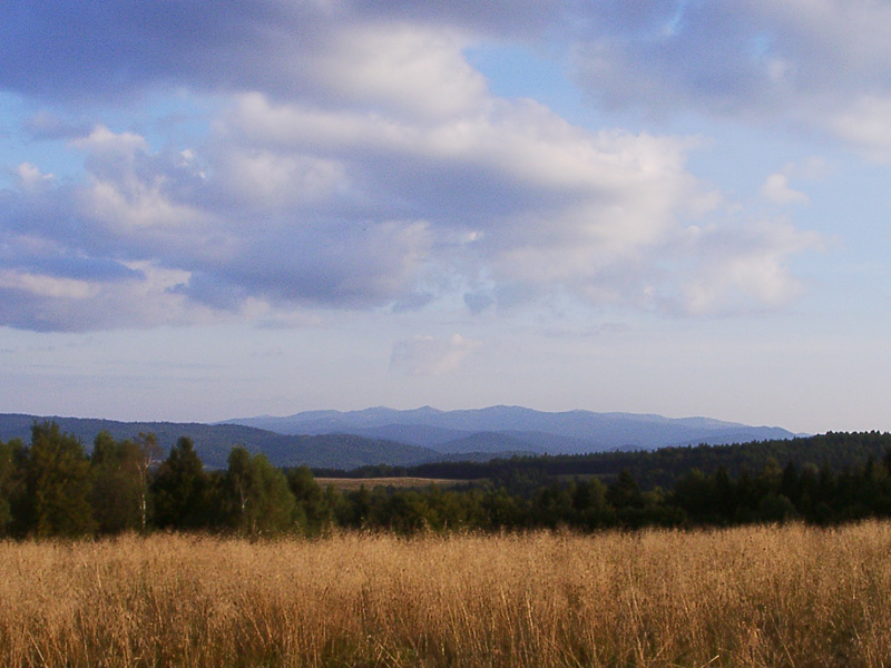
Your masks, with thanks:
[(644, 489), (670, 488), (693, 470), (713, 473), (719, 469), (732, 477), (755, 473), (771, 461), (797, 468), (828, 468), (843, 472), (864, 465), (871, 459), (881, 461), (891, 451), (891, 434), (881, 432), (836, 433), (815, 436), (755, 441), (733, 445), (662, 448), (654, 451), (597, 452), (578, 455), (513, 456), (487, 462), (434, 462), (415, 466), (365, 466), (350, 472), (316, 470), (320, 475), (409, 475), (452, 480), (506, 480), (526, 478), (542, 480), (555, 477), (590, 477), (610, 479), (623, 470)]

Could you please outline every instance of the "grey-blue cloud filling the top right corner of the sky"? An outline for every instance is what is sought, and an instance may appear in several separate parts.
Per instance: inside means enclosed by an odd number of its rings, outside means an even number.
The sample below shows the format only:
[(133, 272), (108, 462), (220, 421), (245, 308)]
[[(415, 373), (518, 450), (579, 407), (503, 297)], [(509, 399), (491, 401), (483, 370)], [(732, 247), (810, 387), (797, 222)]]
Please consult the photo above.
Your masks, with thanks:
[(885, 3), (610, 0), (584, 13), (577, 80), (601, 105), (780, 119), (887, 149), (874, 99), (891, 92)]

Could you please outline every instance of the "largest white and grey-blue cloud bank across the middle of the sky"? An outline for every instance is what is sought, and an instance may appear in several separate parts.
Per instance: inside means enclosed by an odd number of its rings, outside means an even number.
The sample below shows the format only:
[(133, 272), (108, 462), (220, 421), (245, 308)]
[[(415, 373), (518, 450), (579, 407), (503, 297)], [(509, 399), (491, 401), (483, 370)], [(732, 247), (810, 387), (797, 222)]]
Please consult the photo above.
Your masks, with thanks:
[[(551, 293), (650, 307), (654, 291), (675, 294), (686, 281), (659, 266), (673, 248), (684, 248), (678, 266), (709, 262), (709, 249), (682, 243), (683, 220), (713, 216), (721, 200), (685, 169), (691, 139), (589, 132), (535, 102), (489, 97), (434, 121), (251, 94), (202, 148), (153, 151), (144, 137), (106, 127), (72, 146), (89, 179), (48, 190), (38, 227), (66, 255), (182, 273), (165, 288), (177, 302), (163, 322), (190, 322), (189, 305), (200, 318), (268, 317), (313, 306), (401, 310), (454, 291), (472, 295), (463, 303), (477, 313)], [(78, 226), (53, 227), (60, 210)], [(764, 249), (775, 263), (800, 250)], [(725, 257), (741, 277), (715, 281), (695, 302), (719, 302), (742, 284), (751, 298), (782, 301), (755, 285), (753, 272), (766, 269), (746, 273), (760, 265), (740, 253)], [(129, 276), (127, 289), (146, 279)], [(117, 302), (91, 302), (100, 303)], [(58, 307), (70, 316), (72, 307)], [(91, 313), (97, 326), (117, 322)]]

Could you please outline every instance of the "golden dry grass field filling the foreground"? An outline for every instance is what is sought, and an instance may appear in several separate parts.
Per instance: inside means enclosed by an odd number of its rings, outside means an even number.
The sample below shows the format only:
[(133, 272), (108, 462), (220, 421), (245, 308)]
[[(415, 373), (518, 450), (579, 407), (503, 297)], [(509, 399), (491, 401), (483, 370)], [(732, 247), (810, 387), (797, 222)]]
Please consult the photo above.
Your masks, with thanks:
[(891, 523), (0, 543), (2, 666), (891, 665)]

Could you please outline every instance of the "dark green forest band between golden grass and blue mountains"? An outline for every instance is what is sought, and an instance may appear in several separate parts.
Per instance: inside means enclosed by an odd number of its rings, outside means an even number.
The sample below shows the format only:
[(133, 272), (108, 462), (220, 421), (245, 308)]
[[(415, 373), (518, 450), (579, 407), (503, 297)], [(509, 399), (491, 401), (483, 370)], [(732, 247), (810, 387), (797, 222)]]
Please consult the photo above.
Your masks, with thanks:
[[(316, 474), (345, 472), (321, 471)], [(243, 446), (206, 470), (188, 438), (165, 451), (151, 433), (99, 432), (90, 453), (53, 422), (0, 442), (0, 536), (125, 531), (320, 536), (335, 528), (503, 531), (726, 527), (891, 517), (891, 435), (828, 433), (737, 445), (667, 448), (484, 463), (370, 466), (353, 477), (460, 481), (424, 489), (321, 487), (306, 466), (278, 469)]]

